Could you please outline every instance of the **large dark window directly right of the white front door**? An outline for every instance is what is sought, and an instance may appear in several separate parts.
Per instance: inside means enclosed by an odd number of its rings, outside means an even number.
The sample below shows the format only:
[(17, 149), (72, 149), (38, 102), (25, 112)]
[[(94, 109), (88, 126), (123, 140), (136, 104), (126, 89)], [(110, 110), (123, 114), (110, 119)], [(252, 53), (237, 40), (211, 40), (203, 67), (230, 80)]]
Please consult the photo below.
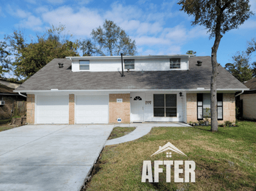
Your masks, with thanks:
[(176, 94), (154, 94), (154, 116), (176, 117), (177, 95)]

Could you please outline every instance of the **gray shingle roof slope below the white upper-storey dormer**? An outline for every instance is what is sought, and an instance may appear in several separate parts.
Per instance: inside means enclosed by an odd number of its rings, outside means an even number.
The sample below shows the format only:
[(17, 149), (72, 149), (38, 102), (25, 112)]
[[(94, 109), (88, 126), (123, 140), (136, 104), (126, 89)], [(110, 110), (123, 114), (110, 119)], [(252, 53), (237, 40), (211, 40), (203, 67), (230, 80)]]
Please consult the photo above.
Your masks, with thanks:
[[(196, 66), (197, 60), (203, 62)], [(62, 62), (64, 68), (59, 68)], [(188, 71), (131, 71), (121, 77), (118, 71), (71, 72), (71, 60), (53, 59), (15, 91), (96, 90), (96, 89), (210, 89), (210, 57), (190, 57)], [(219, 66), (217, 89), (246, 89), (239, 80)]]

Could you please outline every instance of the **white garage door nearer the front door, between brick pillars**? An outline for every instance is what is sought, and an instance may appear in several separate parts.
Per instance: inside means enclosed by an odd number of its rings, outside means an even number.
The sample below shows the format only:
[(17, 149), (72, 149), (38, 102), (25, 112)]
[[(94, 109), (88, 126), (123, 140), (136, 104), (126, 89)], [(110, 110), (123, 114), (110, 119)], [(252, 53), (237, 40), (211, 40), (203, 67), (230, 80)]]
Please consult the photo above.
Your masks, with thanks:
[(108, 123), (109, 96), (77, 96), (76, 123)]

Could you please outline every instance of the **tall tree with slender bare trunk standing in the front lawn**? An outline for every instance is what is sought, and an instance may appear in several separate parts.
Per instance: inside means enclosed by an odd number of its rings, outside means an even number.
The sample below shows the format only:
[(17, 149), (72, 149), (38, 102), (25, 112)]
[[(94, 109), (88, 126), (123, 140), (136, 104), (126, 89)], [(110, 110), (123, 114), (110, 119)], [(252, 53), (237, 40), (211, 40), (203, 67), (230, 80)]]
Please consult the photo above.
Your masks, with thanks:
[(203, 25), (210, 33), (210, 39), (215, 37), (212, 46), (211, 75), (211, 131), (218, 130), (217, 123), (217, 50), (223, 34), (238, 28), (253, 13), (250, 11), (249, 0), (179, 0), (181, 10), (193, 15), (192, 25)]

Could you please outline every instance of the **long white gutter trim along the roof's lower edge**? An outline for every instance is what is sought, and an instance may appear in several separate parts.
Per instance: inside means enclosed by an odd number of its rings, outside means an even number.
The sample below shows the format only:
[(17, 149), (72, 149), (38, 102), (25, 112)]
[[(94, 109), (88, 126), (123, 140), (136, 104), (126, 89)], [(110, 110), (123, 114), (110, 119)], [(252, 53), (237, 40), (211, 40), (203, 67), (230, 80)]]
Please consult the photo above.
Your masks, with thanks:
[[(246, 89), (217, 89), (217, 91), (248, 91)], [(210, 91), (210, 89), (67, 89), (59, 90), (59, 92), (89, 92), (89, 91)], [(14, 92), (51, 92), (51, 90), (24, 90)]]

